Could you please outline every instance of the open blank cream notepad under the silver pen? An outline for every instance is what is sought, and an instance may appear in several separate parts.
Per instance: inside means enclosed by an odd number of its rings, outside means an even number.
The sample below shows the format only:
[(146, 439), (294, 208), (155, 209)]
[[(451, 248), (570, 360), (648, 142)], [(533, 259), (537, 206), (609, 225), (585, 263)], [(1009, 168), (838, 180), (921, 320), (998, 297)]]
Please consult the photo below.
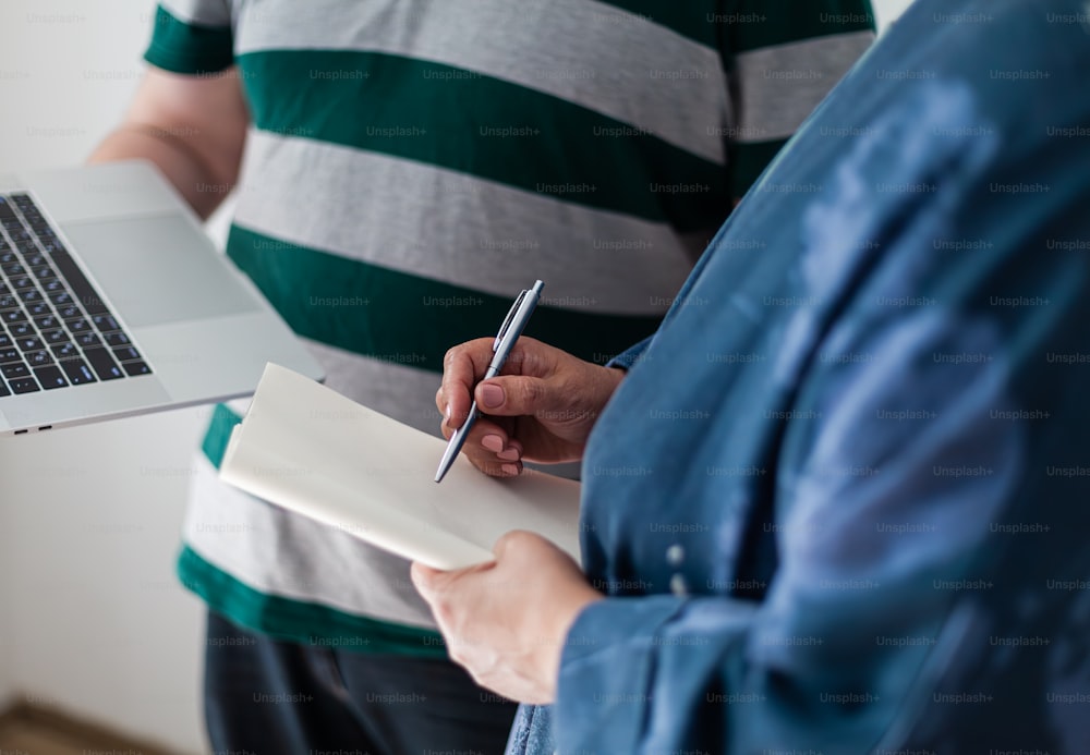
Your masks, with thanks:
[(488, 477), (464, 456), (443, 483), (446, 443), (290, 369), (265, 368), (220, 478), (277, 506), (436, 569), (493, 560), (528, 529), (579, 560), (579, 483), (541, 472)]

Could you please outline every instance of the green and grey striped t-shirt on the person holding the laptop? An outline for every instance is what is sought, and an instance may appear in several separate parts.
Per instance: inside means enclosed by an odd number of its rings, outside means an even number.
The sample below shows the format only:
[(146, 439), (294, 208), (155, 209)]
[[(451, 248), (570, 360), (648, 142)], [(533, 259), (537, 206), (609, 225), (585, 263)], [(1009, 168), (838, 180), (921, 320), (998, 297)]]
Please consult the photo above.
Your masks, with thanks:
[[(235, 66), (227, 253), (328, 385), (437, 433), (445, 351), (546, 281), (528, 334), (605, 362), (651, 333), (734, 198), (873, 38), (867, 0), (165, 0), (146, 58)], [(408, 564), (220, 485), (183, 583), (235, 622), (444, 655)]]

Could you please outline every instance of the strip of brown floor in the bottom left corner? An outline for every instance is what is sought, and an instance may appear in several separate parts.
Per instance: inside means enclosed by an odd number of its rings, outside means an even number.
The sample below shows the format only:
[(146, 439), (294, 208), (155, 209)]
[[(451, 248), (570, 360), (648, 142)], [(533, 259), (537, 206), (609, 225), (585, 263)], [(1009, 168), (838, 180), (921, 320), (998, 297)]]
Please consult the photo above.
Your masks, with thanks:
[(88, 755), (96, 752), (169, 755), (55, 710), (20, 706), (0, 713), (0, 753), (3, 755)]

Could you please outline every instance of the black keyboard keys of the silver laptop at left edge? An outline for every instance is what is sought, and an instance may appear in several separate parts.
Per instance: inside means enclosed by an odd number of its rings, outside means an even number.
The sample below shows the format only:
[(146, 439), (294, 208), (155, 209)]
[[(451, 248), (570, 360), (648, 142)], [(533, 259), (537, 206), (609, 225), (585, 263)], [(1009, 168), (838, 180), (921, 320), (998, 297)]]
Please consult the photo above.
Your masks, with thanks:
[(0, 398), (150, 373), (31, 197), (0, 195)]

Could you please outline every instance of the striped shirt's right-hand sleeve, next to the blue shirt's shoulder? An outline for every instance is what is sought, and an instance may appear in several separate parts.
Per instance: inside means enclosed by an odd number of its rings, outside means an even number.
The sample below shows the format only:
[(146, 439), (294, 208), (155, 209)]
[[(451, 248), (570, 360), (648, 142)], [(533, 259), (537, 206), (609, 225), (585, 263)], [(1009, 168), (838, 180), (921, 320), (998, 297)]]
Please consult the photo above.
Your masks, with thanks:
[(741, 197), (874, 40), (869, 0), (734, 0), (719, 34), (730, 188)]

